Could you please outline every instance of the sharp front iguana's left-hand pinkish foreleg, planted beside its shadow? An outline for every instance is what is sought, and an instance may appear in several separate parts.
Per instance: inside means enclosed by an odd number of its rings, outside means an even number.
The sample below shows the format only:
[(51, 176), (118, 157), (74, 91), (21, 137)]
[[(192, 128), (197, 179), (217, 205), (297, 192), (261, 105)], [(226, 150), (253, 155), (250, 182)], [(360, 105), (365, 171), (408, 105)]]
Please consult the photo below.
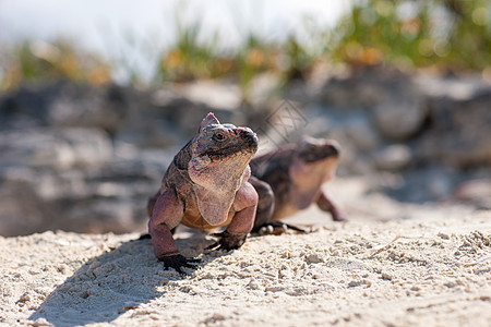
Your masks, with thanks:
[(177, 247), (170, 230), (182, 219), (183, 205), (175, 190), (168, 189), (155, 202), (152, 217), (148, 221), (148, 232), (152, 237), (155, 256), (164, 262), (165, 269), (173, 268), (183, 274), (182, 267), (194, 268), (191, 264), (196, 259), (183, 257)]

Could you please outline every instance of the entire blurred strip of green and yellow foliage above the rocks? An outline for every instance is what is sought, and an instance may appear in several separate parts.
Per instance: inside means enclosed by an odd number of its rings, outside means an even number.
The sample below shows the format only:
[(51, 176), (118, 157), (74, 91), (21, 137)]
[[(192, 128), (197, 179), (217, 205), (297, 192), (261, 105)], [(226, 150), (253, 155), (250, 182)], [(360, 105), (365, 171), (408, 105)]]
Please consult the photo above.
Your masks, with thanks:
[[(308, 41), (291, 34), (283, 43), (246, 33), (237, 49), (224, 49), (219, 33), (201, 35), (201, 22), (184, 25), (177, 14), (177, 41), (158, 56), (152, 84), (196, 78), (233, 78), (244, 98), (263, 72), (284, 83), (306, 78), (319, 64), (388, 64), (404, 70), (491, 74), (489, 0), (355, 0), (333, 28), (304, 19)], [(128, 40), (129, 41), (129, 40)], [(133, 40), (134, 41), (134, 40)], [(117, 62), (77, 48), (74, 40), (24, 40), (3, 45), (0, 89), (23, 83), (70, 80), (94, 85), (112, 81)], [(131, 68), (129, 68), (131, 69)], [(132, 72), (131, 83), (142, 77)]]

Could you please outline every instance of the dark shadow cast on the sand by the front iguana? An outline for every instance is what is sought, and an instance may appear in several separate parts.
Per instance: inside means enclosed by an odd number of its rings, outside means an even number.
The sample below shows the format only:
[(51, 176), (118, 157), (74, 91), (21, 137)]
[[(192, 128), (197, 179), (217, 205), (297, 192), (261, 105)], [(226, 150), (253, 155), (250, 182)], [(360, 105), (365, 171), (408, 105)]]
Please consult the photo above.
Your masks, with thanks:
[[(197, 256), (209, 240), (192, 235), (177, 239), (177, 243), (183, 255)], [(215, 258), (205, 256), (196, 267), (204, 267)], [(91, 258), (58, 286), (29, 319), (44, 318), (56, 326), (110, 323), (165, 295), (169, 281), (190, 278), (194, 278), (192, 274), (181, 276), (175, 270), (164, 270), (153, 254), (151, 240), (128, 241)]]

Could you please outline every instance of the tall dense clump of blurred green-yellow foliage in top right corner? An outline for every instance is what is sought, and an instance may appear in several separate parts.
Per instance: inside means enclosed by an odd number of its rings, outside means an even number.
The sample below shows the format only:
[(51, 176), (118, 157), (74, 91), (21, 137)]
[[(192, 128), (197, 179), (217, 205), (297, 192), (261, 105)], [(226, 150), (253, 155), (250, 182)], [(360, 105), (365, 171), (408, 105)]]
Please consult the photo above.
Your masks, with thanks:
[(350, 64), (483, 70), (491, 65), (488, 0), (355, 1), (335, 28), (333, 58)]

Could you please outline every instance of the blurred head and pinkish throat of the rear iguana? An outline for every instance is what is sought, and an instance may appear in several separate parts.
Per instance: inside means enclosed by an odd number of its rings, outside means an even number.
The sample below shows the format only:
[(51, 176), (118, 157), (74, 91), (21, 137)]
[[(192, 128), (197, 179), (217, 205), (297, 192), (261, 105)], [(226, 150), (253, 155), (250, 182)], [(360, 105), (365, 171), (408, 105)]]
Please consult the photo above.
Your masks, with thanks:
[(289, 167), (290, 198), (298, 208), (314, 201), (322, 184), (334, 177), (338, 159), (336, 141), (303, 137)]

